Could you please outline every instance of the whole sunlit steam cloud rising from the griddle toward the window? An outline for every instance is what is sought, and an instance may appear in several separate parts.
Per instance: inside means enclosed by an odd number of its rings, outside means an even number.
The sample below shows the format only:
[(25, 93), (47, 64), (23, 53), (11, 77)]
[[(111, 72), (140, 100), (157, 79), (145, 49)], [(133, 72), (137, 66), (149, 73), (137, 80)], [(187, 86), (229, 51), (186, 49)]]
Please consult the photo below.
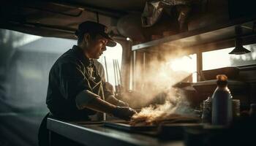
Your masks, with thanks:
[[(136, 122), (143, 120), (150, 125), (192, 113), (185, 94), (177, 88), (172, 88), (172, 85), (191, 75), (191, 72), (173, 68), (173, 62), (177, 61), (177, 57), (186, 53), (163, 54), (148, 54), (150, 59), (146, 61), (147, 66), (136, 66), (135, 93), (126, 99), (132, 107), (143, 107), (132, 117), (133, 120), (137, 120)], [(185, 69), (190, 67), (186, 64), (180, 65)]]

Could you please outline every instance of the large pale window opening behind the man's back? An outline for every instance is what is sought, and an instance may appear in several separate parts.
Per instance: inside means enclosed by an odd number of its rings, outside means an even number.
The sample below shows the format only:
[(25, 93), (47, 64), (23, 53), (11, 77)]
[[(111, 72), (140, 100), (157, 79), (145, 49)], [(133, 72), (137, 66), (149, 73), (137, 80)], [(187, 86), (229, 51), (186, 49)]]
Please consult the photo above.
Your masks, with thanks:
[[(45, 115), (48, 74), (75, 40), (0, 29), (0, 99), (31, 115)], [(9, 111), (9, 110), (8, 110)]]

